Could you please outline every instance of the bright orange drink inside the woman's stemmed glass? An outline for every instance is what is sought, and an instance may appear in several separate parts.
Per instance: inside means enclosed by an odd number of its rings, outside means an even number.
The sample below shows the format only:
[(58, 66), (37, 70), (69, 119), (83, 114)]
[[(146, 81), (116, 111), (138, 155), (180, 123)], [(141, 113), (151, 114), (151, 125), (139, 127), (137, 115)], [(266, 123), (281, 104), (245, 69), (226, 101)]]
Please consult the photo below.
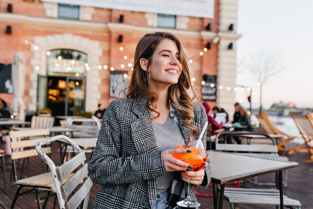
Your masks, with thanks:
[[(181, 147), (181, 145), (177, 145), (176, 148), (184, 148)], [(182, 160), (189, 165), (192, 166), (192, 171), (199, 170), (203, 165), (203, 162), (206, 161), (206, 152), (202, 147), (195, 148), (195, 147), (189, 147), (184, 148), (189, 149), (191, 152), (188, 153), (176, 153), (173, 154), (173, 157), (179, 160)]]

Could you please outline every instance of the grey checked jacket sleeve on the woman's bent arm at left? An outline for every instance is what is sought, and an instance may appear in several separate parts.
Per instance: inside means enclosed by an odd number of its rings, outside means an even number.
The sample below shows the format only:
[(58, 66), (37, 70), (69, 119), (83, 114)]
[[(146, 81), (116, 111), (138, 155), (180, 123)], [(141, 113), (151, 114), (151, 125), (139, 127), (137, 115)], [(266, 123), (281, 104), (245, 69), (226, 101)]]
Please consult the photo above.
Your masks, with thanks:
[[(165, 174), (160, 151), (153, 150), (138, 154), (132, 147), (130, 125), (126, 127), (127, 123), (121, 121), (120, 108), (122, 107), (113, 101), (104, 113), (95, 150), (88, 163), (88, 172), (92, 181), (114, 186), (131, 184)], [(131, 115), (123, 115), (123, 118), (129, 117)], [(129, 130), (126, 131), (128, 136), (121, 134), (122, 129)]]

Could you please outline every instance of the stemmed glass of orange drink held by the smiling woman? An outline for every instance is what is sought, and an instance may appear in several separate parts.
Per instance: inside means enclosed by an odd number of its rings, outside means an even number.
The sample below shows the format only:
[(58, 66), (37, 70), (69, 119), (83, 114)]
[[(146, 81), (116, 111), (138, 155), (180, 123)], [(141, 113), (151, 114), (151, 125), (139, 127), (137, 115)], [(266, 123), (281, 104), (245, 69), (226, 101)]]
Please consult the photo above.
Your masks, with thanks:
[[(203, 147), (202, 141), (197, 143), (197, 140), (187, 140), (186, 144), (179, 144), (176, 148), (183, 148), (191, 150), (188, 153), (177, 153), (173, 154), (173, 157), (180, 159), (192, 166), (190, 170), (197, 171), (203, 167), (203, 162), (206, 162), (206, 151)], [(200, 203), (191, 199), (190, 197), (190, 177), (188, 176), (188, 188), (187, 197), (181, 201), (177, 202), (180, 207), (198, 207)]]

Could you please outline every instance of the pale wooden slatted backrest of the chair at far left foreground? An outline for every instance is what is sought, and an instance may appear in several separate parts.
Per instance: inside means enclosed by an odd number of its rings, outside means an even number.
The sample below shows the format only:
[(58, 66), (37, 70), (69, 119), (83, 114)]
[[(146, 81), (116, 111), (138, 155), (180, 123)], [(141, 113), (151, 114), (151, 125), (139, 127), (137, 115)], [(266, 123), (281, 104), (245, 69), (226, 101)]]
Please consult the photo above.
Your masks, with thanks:
[[(20, 177), (17, 176), (16, 163), (15, 160), (37, 156), (35, 150), (35, 145), (38, 141), (49, 135), (48, 129), (35, 129), (35, 130), (25, 130), (25, 131), (9, 131), (8, 135), (10, 137), (10, 147), (11, 147), (11, 160), (13, 166), (14, 181), (22, 178), (21, 169)], [(46, 153), (51, 153), (51, 147), (44, 147)]]

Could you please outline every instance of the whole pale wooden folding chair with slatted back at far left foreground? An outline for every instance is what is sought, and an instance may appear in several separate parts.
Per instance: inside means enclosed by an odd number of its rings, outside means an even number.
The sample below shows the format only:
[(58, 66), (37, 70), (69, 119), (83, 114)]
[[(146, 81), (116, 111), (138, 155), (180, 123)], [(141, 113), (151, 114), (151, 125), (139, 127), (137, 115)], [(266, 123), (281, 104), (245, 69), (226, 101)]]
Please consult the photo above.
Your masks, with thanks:
[[(8, 135), (11, 139), (11, 160), (12, 160), (12, 169), (14, 175), (14, 184), (17, 185), (17, 190), (14, 196), (14, 199), (11, 204), (11, 208), (14, 207), (17, 197), (26, 193), (34, 192), (36, 195), (36, 201), (38, 208), (41, 209), (41, 199), (45, 199), (44, 205), (47, 202), (47, 198), (55, 192), (53, 179), (51, 178), (51, 174), (46, 171), (42, 171), (37, 175), (29, 176), (23, 178), (23, 167), (21, 167), (20, 175), (17, 174), (17, 160), (25, 160), (26, 158), (31, 160), (32, 157), (37, 157), (37, 152), (35, 150), (35, 144), (42, 140), (44, 137), (48, 136), (48, 129), (35, 129), (35, 130), (24, 130), (24, 131), (9, 131)], [(34, 137), (34, 138), (33, 138)], [(38, 138), (39, 137), (39, 138)], [(14, 140), (12, 139), (21, 139)], [(46, 153), (51, 153), (51, 147), (44, 147)], [(47, 191), (45, 196), (39, 196), (40, 191)]]

